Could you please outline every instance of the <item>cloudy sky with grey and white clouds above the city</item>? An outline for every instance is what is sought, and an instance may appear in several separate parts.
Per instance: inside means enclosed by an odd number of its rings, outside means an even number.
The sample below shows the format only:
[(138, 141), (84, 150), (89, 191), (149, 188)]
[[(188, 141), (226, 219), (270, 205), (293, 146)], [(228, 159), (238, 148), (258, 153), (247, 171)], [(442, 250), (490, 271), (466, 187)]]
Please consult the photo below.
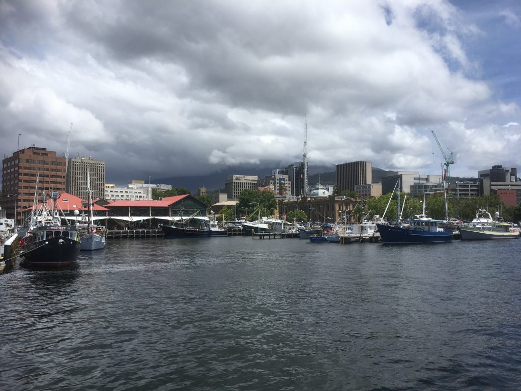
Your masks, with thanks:
[[(107, 181), (302, 160), (521, 166), (517, 0), (0, 0), (0, 151)], [(333, 168), (334, 169), (334, 168)]]

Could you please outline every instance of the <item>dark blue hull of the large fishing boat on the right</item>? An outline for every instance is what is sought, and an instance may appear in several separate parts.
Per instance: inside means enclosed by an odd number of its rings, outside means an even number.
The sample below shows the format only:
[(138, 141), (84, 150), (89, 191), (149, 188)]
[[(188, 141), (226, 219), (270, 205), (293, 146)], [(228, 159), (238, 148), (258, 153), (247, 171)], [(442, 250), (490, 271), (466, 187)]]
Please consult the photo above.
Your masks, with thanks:
[(385, 224), (377, 224), (378, 233), (383, 243), (443, 243), (450, 242), (452, 231), (421, 231)]

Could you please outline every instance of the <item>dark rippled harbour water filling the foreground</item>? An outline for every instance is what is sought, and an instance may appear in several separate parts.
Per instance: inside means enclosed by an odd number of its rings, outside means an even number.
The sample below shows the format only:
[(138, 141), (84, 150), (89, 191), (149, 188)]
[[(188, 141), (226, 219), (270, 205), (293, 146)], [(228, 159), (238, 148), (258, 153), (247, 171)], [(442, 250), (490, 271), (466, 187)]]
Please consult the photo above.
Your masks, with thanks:
[(521, 389), (520, 249), (123, 239), (17, 264), (0, 389)]

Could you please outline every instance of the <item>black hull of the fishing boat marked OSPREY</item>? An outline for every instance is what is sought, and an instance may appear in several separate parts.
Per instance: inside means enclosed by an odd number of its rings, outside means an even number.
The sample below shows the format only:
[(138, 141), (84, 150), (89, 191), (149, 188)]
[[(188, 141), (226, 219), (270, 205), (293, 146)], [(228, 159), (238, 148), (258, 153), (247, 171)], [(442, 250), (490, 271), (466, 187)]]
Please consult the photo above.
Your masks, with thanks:
[(65, 237), (53, 237), (24, 243), (20, 256), (31, 266), (64, 267), (78, 264), (80, 242)]

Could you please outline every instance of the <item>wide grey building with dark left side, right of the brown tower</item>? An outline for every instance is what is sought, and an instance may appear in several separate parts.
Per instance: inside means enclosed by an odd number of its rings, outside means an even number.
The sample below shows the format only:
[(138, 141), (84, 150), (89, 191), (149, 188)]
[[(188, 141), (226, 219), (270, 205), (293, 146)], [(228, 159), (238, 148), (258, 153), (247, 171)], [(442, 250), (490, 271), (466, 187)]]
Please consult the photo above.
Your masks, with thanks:
[[(399, 171), (398, 174), (382, 177), (382, 194), (391, 193), (396, 186), (396, 182), (400, 179), (400, 191), (411, 194), (423, 194), (425, 187), (425, 194), (432, 194), (443, 191), (441, 175), (420, 175), (418, 171)], [(414, 186), (413, 185), (419, 185)], [(419, 190), (420, 189), (420, 190)]]

